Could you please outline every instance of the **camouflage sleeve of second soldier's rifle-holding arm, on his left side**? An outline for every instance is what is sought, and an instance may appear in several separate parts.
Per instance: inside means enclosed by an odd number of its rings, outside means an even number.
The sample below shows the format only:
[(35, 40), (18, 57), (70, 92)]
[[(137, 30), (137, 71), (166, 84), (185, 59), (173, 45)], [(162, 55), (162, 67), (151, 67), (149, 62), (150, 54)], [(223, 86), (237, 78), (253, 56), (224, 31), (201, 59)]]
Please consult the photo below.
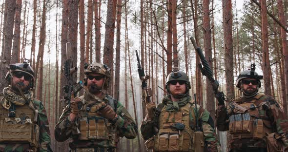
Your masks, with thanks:
[[(76, 120), (77, 121), (77, 120)], [(59, 142), (67, 140), (72, 133), (77, 132), (77, 126), (70, 120), (70, 109), (66, 107), (54, 129), (55, 139)]]

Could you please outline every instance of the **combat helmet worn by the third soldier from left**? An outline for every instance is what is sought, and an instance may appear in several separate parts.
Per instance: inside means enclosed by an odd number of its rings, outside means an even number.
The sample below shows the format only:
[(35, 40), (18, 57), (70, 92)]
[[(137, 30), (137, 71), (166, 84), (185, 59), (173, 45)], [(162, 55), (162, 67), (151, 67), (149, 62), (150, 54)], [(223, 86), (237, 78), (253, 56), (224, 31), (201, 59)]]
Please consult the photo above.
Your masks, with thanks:
[(169, 87), (168, 87), (169, 82), (174, 81), (174, 80), (185, 81), (186, 92), (189, 92), (189, 89), (191, 89), (191, 84), (190, 84), (187, 74), (183, 71), (178, 70), (178, 68), (173, 68), (172, 72), (167, 76), (167, 80), (165, 83), (165, 89), (169, 94), (170, 94)]

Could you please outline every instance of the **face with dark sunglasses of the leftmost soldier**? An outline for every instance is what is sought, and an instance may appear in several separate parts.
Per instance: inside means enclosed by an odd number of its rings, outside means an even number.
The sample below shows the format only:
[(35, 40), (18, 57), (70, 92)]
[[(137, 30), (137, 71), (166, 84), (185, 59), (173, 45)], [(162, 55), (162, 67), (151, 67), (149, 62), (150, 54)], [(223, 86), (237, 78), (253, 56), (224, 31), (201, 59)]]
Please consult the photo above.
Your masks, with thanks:
[(29, 90), (29, 83), (32, 79), (32, 76), (23, 73), (23, 72), (14, 72), (12, 79), (12, 89), (16, 92), (18, 91), (17, 86), (23, 91), (26, 92)]

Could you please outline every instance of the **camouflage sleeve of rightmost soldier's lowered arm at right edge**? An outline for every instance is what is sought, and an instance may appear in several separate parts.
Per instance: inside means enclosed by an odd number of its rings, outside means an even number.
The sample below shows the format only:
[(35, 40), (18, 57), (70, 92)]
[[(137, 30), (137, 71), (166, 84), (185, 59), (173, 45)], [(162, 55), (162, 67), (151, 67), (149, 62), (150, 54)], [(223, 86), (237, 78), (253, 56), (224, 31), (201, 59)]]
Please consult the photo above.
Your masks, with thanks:
[(288, 119), (285, 113), (281, 110), (277, 101), (272, 97), (268, 96), (269, 110), (267, 115), (272, 120), (273, 126), (276, 128), (277, 133), (281, 136), (281, 140), (285, 148), (288, 148)]

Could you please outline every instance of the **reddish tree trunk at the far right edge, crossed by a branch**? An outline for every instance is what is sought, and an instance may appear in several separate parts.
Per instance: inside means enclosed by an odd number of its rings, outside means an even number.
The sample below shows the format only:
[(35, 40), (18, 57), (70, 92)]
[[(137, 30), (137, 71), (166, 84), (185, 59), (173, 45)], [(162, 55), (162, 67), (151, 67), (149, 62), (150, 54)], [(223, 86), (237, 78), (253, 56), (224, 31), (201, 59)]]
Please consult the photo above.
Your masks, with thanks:
[[(286, 17), (283, 11), (283, 2), (282, 0), (278, 0), (278, 9), (279, 9), (279, 18), (280, 18), (280, 22), (287, 27), (286, 25)], [(281, 42), (282, 42), (282, 50), (283, 50), (283, 55), (284, 55), (284, 60), (285, 60), (285, 80), (286, 80), (286, 84), (285, 84), (285, 88), (288, 88), (288, 47), (287, 47), (287, 35), (285, 33), (285, 30), (281, 27), (280, 29), (281, 31)], [(284, 93), (283, 93), (284, 94)], [(286, 89), (286, 94), (285, 94), (285, 98), (288, 98), (288, 89)], [(283, 100), (283, 107), (284, 107), (284, 112), (287, 115), (287, 101)]]

